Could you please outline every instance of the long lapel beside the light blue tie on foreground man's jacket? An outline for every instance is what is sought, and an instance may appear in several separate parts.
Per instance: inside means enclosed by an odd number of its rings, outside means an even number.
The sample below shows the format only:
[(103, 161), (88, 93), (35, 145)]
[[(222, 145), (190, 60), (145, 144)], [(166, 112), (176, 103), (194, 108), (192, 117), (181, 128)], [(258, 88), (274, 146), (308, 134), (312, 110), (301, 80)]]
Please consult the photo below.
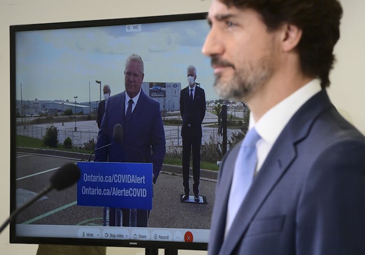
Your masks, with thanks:
[[(287, 126), (276, 139), (258, 175), (255, 177), (250, 190), (247, 192), (242, 206), (237, 213), (237, 217), (233, 221), (232, 227), (223, 242), (220, 254), (230, 254), (233, 252), (247, 231), (249, 224), (255, 217), (260, 206), (267, 199), (275, 184), (289, 169), (291, 162), (295, 160), (295, 144), (305, 139), (310, 132), (315, 118), (320, 112), (323, 112), (329, 107), (333, 106), (326, 91), (322, 90), (309, 99), (290, 119)], [(229, 178), (231, 179), (232, 175)], [(227, 183), (224, 185), (227, 185)], [(224, 187), (230, 187), (230, 185)], [(222, 210), (226, 210), (227, 202), (223, 206), (220, 206), (223, 207), (221, 208)], [(224, 229), (221, 229), (221, 231), (224, 232)]]

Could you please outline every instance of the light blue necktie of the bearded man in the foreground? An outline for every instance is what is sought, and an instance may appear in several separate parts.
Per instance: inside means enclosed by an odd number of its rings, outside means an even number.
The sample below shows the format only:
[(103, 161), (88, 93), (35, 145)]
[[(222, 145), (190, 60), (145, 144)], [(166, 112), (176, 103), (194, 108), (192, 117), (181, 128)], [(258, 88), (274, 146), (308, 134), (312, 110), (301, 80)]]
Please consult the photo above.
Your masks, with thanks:
[(251, 128), (243, 139), (236, 160), (232, 187), (228, 198), (226, 234), (240, 209), (243, 199), (249, 190), (257, 165), (256, 143), (260, 136), (255, 128)]

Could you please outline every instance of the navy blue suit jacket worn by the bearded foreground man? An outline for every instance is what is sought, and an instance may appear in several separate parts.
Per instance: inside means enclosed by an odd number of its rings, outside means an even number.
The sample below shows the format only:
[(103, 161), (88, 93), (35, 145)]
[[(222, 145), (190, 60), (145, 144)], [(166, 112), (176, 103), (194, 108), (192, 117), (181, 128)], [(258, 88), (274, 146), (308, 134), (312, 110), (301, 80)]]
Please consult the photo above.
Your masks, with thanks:
[(365, 139), (324, 90), (279, 135), (224, 239), (239, 146), (222, 162), (210, 255), (365, 254)]

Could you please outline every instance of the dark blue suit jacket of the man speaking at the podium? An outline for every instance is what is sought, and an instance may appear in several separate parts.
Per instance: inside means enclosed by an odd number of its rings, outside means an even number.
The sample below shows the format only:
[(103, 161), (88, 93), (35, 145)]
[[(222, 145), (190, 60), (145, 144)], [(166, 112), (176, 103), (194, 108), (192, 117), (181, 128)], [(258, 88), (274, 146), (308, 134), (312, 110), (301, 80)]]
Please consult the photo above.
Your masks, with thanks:
[(96, 148), (113, 142), (116, 124), (123, 127), (122, 144), (95, 151), (95, 161), (152, 162), (156, 182), (165, 157), (165, 131), (160, 105), (141, 90), (129, 125), (124, 125), (125, 92), (109, 97)]

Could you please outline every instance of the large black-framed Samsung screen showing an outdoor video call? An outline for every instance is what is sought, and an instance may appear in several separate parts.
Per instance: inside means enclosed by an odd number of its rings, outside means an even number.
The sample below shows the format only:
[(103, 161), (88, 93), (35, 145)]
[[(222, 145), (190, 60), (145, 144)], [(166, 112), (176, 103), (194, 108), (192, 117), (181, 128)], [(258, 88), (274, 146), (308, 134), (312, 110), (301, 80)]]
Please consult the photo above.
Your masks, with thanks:
[[(114, 169), (110, 178), (141, 184), (109, 192), (110, 186), (101, 184), (109, 177), (93, 174), (91, 169), (77, 185), (51, 191), (21, 212), (11, 224), (11, 242), (207, 248), (222, 159), (219, 110), (223, 102), (213, 90), (210, 59), (201, 54), (209, 32), (205, 17), (190, 14), (11, 27), (12, 210), (42, 191), (62, 165), (74, 162), (81, 169), (90, 168), (103, 87), (109, 85), (110, 96), (125, 90), (124, 68), (131, 54), (138, 54), (144, 62), (141, 89), (160, 105), (166, 141), (154, 184), (151, 176), (134, 174), (133, 164), (109, 165)], [(198, 203), (182, 201), (180, 91), (188, 85), (189, 65), (196, 67), (195, 82), (206, 98)], [(242, 122), (243, 105), (227, 104), (228, 118)], [(238, 126), (228, 127), (228, 138), (239, 131)], [(104, 165), (96, 168), (104, 169)], [(152, 185), (143, 186), (146, 182)], [(192, 177), (189, 184), (193, 191)], [(130, 206), (151, 207), (146, 226), (109, 225), (111, 209), (118, 218), (113, 220), (124, 222), (118, 196), (145, 197), (151, 191), (151, 205), (141, 200)], [(85, 202), (85, 195), (90, 194), (94, 196)], [(110, 196), (116, 208), (107, 206)], [(134, 199), (128, 201), (134, 203)]]

